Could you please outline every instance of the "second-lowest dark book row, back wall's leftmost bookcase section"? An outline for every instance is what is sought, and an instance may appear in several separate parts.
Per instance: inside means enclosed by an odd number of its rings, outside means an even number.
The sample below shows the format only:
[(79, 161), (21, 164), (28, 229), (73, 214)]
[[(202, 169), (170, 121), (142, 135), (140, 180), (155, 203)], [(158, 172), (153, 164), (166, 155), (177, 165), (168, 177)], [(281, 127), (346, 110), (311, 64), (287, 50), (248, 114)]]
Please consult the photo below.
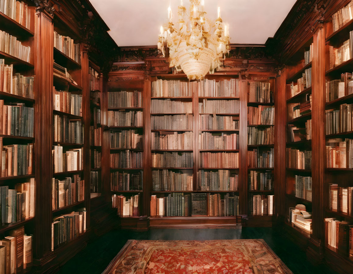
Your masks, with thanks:
[(143, 170), (136, 173), (128, 173), (124, 171), (110, 172), (110, 189), (112, 191), (142, 190), (142, 185)]

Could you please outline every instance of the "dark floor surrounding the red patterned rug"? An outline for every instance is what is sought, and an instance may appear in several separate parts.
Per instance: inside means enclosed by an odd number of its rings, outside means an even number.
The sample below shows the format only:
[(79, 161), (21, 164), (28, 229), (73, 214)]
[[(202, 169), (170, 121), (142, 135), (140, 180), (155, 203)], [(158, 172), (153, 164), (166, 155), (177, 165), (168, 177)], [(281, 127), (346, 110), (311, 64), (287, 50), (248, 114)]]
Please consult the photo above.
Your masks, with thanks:
[(305, 251), (285, 231), (276, 228), (243, 229), (152, 229), (146, 232), (115, 230), (91, 240), (87, 247), (61, 267), (59, 273), (102, 273), (128, 239), (213, 240), (264, 239), (294, 274), (336, 274), (326, 265), (314, 266)]

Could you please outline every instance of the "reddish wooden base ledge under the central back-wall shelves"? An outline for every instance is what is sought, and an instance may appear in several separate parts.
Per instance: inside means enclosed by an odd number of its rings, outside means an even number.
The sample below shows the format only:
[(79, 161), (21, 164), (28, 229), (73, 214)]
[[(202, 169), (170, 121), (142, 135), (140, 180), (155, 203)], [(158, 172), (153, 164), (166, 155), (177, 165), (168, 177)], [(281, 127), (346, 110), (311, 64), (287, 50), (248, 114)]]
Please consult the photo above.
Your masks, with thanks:
[(241, 228), (240, 216), (150, 217), (150, 228)]

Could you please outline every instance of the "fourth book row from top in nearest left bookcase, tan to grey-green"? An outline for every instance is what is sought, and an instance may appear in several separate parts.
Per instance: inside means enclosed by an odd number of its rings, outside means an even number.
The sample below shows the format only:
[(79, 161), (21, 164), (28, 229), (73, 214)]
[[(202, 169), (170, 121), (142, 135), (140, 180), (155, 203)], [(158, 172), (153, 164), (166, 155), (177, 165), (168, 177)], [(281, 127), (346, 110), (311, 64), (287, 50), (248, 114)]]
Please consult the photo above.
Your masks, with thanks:
[(0, 134), (33, 137), (34, 108), (23, 103), (5, 105), (0, 100)]

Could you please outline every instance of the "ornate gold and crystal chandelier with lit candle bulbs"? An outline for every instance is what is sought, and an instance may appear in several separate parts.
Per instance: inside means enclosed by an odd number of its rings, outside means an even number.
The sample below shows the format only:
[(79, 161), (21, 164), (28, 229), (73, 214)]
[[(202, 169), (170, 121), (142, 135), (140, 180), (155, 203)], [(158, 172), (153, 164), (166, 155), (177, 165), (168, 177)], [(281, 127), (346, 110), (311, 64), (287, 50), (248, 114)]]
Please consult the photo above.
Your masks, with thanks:
[(229, 52), (229, 30), (222, 21), (220, 8), (215, 22), (206, 17), (204, 0), (190, 0), (189, 15), (181, 0), (178, 15), (174, 25), (172, 10), (168, 8), (168, 23), (161, 26), (158, 49), (165, 56), (165, 49), (169, 48), (170, 68), (183, 70), (189, 80), (202, 80), (208, 72), (214, 73)]

